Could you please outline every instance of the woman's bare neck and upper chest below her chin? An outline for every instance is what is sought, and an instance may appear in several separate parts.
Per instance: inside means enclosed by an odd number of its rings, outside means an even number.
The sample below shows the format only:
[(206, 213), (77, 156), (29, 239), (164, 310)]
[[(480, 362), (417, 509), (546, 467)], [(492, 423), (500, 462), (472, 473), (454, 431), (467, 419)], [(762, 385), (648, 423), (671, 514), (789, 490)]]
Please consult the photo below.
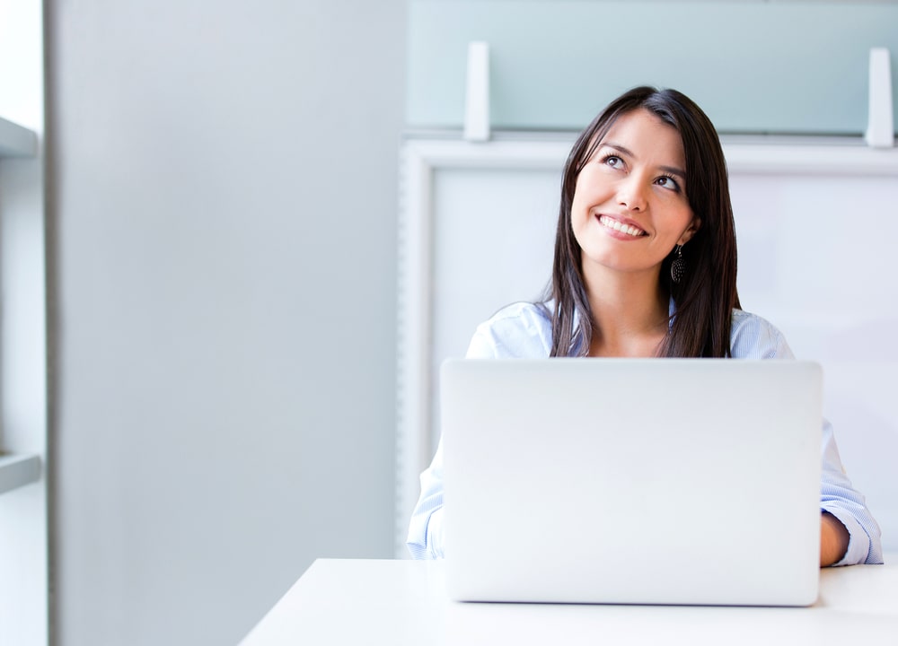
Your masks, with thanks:
[(656, 356), (667, 334), (670, 297), (657, 273), (593, 276), (586, 293), (593, 314), (590, 356)]

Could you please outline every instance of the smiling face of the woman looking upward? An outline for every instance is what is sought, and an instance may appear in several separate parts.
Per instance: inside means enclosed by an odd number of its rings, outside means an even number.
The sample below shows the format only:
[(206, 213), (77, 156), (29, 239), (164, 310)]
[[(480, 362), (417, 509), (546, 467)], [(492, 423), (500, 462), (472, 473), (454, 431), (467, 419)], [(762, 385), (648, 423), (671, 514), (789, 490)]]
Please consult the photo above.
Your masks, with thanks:
[(699, 228), (685, 167), (674, 127), (646, 109), (617, 119), (577, 176), (571, 225), (585, 274), (590, 265), (658, 274)]

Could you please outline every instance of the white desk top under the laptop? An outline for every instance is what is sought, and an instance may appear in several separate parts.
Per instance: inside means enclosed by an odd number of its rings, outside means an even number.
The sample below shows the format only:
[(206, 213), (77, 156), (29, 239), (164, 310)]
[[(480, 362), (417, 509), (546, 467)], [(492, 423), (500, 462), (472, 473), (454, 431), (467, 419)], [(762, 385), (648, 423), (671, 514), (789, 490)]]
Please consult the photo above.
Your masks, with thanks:
[(242, 646), (898, 645), (898, 554), (823, 570), (809, 608), (455, 603), (443, 563), (315, 561)]

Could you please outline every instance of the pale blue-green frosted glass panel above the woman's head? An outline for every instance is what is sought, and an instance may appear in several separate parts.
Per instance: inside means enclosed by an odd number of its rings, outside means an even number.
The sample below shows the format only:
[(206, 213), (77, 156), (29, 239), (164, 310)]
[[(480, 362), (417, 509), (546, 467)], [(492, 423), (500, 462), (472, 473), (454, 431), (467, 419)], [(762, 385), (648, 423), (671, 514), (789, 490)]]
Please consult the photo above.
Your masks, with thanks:
[(578, 130), (647, 83), (721, 132), (860, 135), (874, 47), (898, 88), (895, 3), (411, 0), (408, 34), (411, 128), (462, 127), (472, 40), (489, 43), (494, 128)]

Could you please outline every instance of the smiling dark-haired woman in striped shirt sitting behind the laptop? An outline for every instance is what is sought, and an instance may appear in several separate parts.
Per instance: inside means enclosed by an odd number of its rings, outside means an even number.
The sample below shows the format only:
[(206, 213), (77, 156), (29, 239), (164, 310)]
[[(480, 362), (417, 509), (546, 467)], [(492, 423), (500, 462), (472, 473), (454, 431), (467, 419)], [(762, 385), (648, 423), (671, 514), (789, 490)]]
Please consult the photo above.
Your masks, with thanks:
[[(674, 90), (639, 87), (604, 109), (565, 165), (552, 281), (478, 327), (468, 357), (793, 358), (740, 309), (726, 162), (709, 118)], [(879, 528), (823, 427), (821, 566), (882, 563)], [(416, 558), (443, 555), (442, 444), (421, 475)]]

